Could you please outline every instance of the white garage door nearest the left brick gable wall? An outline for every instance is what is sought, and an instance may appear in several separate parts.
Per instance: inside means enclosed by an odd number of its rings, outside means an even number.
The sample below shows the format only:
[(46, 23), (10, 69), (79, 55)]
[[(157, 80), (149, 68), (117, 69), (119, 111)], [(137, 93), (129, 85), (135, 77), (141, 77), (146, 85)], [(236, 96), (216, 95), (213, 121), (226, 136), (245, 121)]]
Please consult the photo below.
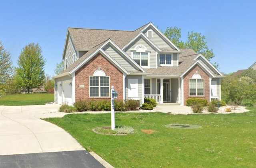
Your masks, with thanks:
[(70, 86), (71, 80), (62, 82), (62, 104), (72, 105), (72, 86)]

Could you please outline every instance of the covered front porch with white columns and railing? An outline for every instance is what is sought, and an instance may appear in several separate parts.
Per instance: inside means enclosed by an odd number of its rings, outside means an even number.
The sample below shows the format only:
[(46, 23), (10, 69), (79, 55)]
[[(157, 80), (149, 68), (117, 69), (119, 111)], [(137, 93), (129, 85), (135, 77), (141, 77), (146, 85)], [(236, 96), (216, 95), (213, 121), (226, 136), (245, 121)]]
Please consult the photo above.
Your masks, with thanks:
[(144, 98), (153, 98), (160, 104), (180, 104), (180, 78), (144, 78)]

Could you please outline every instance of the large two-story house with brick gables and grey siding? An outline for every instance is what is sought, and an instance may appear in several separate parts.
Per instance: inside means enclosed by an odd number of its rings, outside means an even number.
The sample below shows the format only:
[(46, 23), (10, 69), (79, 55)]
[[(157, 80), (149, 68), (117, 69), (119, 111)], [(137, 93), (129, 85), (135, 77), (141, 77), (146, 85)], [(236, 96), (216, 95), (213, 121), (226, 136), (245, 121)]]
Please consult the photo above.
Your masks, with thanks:
[(188, 98), (220, 100), (220, 73), (201, 54), (179, 49), (151, 22), (135, 31), (68, 28), (64, 71), (54, 77), (55, 102), (154, 98), (186, 104)]

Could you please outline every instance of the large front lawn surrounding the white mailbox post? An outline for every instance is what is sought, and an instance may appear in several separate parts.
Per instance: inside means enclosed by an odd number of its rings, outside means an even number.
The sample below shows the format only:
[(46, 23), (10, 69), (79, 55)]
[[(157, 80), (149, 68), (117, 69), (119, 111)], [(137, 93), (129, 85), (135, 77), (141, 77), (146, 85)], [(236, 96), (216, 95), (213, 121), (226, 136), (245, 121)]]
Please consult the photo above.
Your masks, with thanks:
[[(110, 126), (108, 114), (70, 114), (48, 118), (114, 167), (254, 167), (256, 107), (247, 113), (170, 115), (116, 113), (116, 125), (131, 126), (131, 135), (100, 135), (93, 128)], [(167, 128), (168, 124), (200, 129)], [(145, 131), (146, 130), (146, 131)], [(151, 134), (150, 134), (151, 133)]]

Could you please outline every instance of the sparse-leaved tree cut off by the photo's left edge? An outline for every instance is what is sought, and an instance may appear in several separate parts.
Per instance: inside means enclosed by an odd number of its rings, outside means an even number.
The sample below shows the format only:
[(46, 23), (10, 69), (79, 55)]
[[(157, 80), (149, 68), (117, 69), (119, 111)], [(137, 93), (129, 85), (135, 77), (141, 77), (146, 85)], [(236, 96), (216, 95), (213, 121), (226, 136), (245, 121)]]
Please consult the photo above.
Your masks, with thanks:
[(0, 41), (0, 84), (6, 84), (12, 78), (13, 67), (10, 55)]

